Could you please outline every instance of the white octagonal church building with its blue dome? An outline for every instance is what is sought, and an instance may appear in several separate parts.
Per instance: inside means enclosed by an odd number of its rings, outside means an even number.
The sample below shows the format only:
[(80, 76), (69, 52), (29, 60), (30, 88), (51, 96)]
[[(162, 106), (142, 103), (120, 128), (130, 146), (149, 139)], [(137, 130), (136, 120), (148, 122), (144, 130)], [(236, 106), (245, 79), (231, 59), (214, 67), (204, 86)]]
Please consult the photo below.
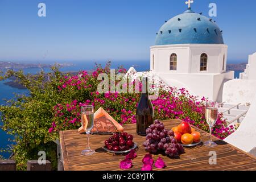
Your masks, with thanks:
[(190, 8), (163, 24), (150, 54), (153, 73), (195, 96), (221, 102), (224, 82), (234, 78), (234, 72), (226, 72), (228, 46), (222, 31)]

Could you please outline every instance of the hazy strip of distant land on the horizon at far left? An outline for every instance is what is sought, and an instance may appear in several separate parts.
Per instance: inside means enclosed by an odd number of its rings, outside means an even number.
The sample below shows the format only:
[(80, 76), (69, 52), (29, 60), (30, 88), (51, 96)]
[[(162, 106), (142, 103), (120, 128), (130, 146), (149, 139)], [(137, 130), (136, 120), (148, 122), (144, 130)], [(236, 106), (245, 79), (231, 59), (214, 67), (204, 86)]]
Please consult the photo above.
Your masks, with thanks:
[[(71, 67), (74, 64), (64, 63), (60, 64), (61, 67)], [(26, 68), (51, 68), (52, 64), (39, 64), (39, 63), (14, 63), (10, 61), (0, 61), (0, 69), (26, 69)]]

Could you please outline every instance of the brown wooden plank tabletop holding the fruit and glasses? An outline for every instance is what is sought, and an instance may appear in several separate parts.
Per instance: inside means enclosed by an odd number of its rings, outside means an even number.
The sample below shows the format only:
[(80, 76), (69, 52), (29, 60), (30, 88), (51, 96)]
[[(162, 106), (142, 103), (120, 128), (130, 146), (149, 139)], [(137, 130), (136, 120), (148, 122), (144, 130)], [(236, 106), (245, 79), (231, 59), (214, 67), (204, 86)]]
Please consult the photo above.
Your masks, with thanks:
[[(179, 125), (178, 119), (164, 121), (167, 129)], [(136, 134), (136, 125), (126, 125), (125, 132), (134, 135), (134, 141), (139, 148), (137, 158), (133, 160), (133, 168), (130, 170), (140, 171), (142, 159), (147, 152), (142, 147), (145, 137)], [(209, 134), (197, 129), (202, 135), (203, 141), (209, 139)], [(90, 135), (90, 147), (96, 150), (92, 156), (83, 156), (81, 151), (86, 148), (86, 135), (77, 133), (77, 130), (61, 131), (60, 144), (63, 155), (64, 170), (67, 171), (121, 171), (119, 162), (125, 159), (123, 155), (111, 155), (102, 149), (102, 141), (108, 139), (106, 135)], [(166, 155), (153, 155), (154, 160), (160, 156), (167, 164), (167, 168), (162, 170), (179, 170), (179, 171), (201, 171), (201, 170), (256, 170), (256, 158), (236, 147), (218, 140), (213, 137), (218, 146), (209, 148), (203, 146), (194, 148), (185, 148), (185, 154), (180, 155), (179, 159), (171, 159)], [(216, 151), (217, 165), (209, 164), (209, 152)], [(156, 170), (155, 167), (153, 168)]]

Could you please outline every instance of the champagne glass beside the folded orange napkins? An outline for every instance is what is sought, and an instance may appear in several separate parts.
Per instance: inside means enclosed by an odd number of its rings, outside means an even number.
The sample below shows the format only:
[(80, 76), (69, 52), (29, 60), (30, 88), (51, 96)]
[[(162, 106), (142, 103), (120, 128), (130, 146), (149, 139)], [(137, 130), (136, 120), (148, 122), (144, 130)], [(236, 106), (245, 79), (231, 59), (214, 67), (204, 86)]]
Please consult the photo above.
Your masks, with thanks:
[[(94, 110), (92, 105), (86, 105), (81, 107), (81, 116), (82, 116), (82, 127), (86, 129), (87, 135), (87, 148), (82, 151), (82, 155), (92, 155), (94, 154), (94, 150), (90, 149), (90, 131), (93, 129), (94, 122)], [(84, 126), (85, 125), (85, 126)]]

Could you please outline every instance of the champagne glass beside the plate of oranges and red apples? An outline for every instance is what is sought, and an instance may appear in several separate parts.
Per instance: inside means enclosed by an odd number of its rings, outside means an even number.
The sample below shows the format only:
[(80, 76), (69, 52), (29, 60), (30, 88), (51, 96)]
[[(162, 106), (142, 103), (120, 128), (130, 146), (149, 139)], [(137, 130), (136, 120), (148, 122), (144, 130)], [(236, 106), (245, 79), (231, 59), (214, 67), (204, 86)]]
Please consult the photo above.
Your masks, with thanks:
[(207, 102), (205, 105), (205, 119), (210, 128), (210, 139), (204, 142), (205, 146), (215, 147), (216, 143), (212, 142), (212, 128), (215, 125), (218, 118), (218, 103), (217, 102)]

